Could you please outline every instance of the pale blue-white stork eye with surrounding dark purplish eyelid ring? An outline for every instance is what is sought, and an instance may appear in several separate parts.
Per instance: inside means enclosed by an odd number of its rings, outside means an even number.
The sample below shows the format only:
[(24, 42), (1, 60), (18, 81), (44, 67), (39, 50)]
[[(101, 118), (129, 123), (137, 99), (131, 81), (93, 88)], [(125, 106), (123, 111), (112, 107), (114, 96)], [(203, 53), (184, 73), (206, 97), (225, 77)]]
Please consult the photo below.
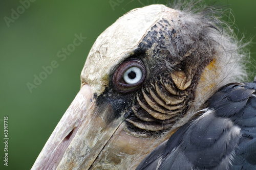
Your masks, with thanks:
[(118, 91), (128, 92), (137, 89), (146, 76), (142, 61), (124, 61), (115, 71), (113, 84)]

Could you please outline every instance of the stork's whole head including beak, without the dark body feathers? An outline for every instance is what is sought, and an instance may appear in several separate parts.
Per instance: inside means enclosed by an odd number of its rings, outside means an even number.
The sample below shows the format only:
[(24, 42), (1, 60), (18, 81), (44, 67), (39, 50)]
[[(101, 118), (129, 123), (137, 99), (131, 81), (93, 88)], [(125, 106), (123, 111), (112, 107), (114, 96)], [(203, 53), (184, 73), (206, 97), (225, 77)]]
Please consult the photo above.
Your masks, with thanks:
[[(94, 43), (81, 89), (32, 169), (133, 169), (242, 76), (218, 21), (164, 5), (134, 9)], [(234, 66), (235, 65), (235, 66)]]

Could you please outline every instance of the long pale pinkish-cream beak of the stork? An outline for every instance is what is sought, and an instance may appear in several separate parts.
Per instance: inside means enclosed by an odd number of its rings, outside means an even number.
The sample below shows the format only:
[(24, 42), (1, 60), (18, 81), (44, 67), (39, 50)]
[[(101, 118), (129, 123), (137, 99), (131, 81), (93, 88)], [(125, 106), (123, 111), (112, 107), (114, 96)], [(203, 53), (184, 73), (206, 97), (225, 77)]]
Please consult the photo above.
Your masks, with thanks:
[(125, 117), (106, 121), (112, 112), (110, 105), (97, 106), (90, 86), (83, 85), (32, 169), (135, 168), (157, 143), (127, 135)]

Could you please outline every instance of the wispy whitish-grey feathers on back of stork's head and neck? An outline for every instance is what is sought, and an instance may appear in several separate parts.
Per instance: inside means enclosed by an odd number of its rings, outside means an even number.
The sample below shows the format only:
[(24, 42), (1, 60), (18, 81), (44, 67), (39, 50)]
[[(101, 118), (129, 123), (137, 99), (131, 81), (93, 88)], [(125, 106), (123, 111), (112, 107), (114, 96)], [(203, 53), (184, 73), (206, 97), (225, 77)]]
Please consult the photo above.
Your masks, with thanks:
[[(231, 82), (248, 80), (248, 68), (245, 67), (245, 61), (249, 58), (246, 49), (248, 43), (238, 40), (229, 24), (221, 20), (226, 16), (222, 8), (205, 6), (201, 1), (176, 1), (171, 6), (182, 14), (183, 24), (189, 27), (187, 35), (196, 35), (199, 29), (203, 29), (201, 34), (205, 34), (204, 39), (195, 41), (199, 52), (208, 53), (215, 50), (213, 56), (209, 56), (212, 57), (212, 61), (202, 72), (194, 100), (196, 102), (191, 103), (193, 108), (189, 110), (188, 116), (181, 120), (181, 122), (187, 122), (190, 116), (193, 116), (209, 96), (220, 87)], [(195, 37), (200, 38), (200, 36), (202, 35), (198, 34)], [(181, 125), (177, 124), (178, 126)]]

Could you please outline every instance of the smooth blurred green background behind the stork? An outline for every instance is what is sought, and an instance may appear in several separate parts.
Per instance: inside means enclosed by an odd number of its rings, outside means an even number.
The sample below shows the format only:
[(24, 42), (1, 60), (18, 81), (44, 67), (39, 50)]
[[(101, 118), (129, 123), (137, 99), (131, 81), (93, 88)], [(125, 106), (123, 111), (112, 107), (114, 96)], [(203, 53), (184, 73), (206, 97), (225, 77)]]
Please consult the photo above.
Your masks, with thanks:
[[(32, 1), (32, 0), (31, 0)], [(63, 113), (80, 88), (80, 72), (99, 34), (115, 20), (133, 8), (154, 1), (35, 1), (23, 11), (19, 1), (0, 2), (0, 169), (30, 169)], [(25, 0), (22, 0), (25, 2)], [(116, 3), (114, 7), (110, 3)], [(211, 2), (211, 1), (210, 1)], [(161, 1), (156, 1), (161, 3)], [(163, 1), (165, 4), (165, 1)], [(236, 18), (234, 29), (248, 41), (256, 33), (256, 1), (219, 1), (230, 5)], [(28, 4), (26, 4), (28, 6)], [(21, 14), (5, 21), (17, 8)], [(14, 15), (14, 17), (17, 17)], [(228, 17), (225, 17), (227, 19)], [(75, 34), (87, 37), (61, 61), (57, 53), (73, 43)], [(255, 42), (255, 38), (253, 40)], [(251, 43), (251, 58), (256, 46)], [(53, 60), (58, 67), (32, 93), (27, 83), (33, 83), (42, 66)], [(254, 61), (251, 60), (251, 65)], [(254, 71), (252, 71), (254, 72)], [(254, 76), (254, 73), (252, 73)], [(4, 166), (4, 116), (8, 116), (8, 167)]]

